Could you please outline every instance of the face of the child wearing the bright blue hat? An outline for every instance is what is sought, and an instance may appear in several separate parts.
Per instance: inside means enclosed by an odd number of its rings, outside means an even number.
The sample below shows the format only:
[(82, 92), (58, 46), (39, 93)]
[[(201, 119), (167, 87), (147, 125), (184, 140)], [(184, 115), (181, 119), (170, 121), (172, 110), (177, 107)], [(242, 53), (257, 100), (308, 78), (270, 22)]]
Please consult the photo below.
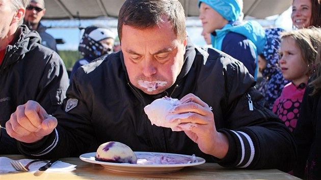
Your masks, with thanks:
[(228, 23), (228, 20), (206, 3), (201, 3), (198, 18), (202, 20), (203, 29), (206, 33), (212, 33), (216, 29), (221, 29)]

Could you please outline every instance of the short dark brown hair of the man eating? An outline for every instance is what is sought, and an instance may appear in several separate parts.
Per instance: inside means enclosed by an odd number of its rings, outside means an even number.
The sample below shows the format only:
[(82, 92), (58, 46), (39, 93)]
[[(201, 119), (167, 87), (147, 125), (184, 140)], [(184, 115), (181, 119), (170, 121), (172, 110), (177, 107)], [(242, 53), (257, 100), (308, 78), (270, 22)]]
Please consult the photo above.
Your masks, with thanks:
[(123, 24), (145, 29), (161, 26), (167, 17), (177, 38), (186, 37), (185, 13), (178, 0), (126, 0), (118, 15), (118, 36), (121, 41)]

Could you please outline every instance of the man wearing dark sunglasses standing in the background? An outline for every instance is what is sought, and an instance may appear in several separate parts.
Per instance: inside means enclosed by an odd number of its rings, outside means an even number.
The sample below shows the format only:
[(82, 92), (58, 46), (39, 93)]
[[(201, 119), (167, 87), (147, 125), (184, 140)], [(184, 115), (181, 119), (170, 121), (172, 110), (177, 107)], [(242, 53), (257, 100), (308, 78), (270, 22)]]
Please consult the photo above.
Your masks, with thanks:
[(25, 11), (24, 24), (39, 33), (42, 45), (58, 52), (56, 39), (46, 33), (47, 27), (40, 23), (45, 13), (44, 0), (31, 0)]

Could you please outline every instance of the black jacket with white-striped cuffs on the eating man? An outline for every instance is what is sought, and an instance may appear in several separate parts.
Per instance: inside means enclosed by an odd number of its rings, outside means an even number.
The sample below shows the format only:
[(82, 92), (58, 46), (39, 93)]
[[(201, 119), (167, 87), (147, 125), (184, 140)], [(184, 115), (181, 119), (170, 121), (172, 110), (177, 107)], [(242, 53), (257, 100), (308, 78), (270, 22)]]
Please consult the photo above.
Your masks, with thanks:
[[(150, 96), (129, 82), (120, 51), (79, 68), (67, 99), (55, 113), (58, 127), (36, 143), (20, 143), (20, 150), (34, 157), (77, 157), (95, 152), (101, 143), (119, 141), (133, 151), (195, 154), (226, 167), (290, 170), (296, 159), (295, 141), (266, 108), (254, 85), (254, 78), (239, 61), (188, 43), (177, 81), (166, 92)], [(184, 132), (152, 126), (144, 112), (156, 98), (181, 99), (189, 93), (213, 108), (217, 130), (229, 138), (224, 159), (201, 152)], [(91, 145), (93, 141), (97, 144)]]

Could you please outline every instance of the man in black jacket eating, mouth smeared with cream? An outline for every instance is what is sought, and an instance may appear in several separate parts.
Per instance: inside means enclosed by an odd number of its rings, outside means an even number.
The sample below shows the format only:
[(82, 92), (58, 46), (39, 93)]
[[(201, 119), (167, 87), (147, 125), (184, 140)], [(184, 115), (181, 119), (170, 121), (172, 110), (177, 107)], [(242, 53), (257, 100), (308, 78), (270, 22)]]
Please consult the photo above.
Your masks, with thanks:
[[(133, 151), (195, 154), (225, 167), (291, 170), (290, 131), (265, 108), (242, 63), (192, 44), (178, 0), (125, 1), (118, 35), (122, 50), (79, 68), (53, 116), (34, 101), (17, 107), (6, 128), (21, 153), (77, 157), (118, 141)], [(170, 121), (197, 126), (151, 125), (144, 107), (165, 96), (180, 102), (170, 110), (179, 119)]]

